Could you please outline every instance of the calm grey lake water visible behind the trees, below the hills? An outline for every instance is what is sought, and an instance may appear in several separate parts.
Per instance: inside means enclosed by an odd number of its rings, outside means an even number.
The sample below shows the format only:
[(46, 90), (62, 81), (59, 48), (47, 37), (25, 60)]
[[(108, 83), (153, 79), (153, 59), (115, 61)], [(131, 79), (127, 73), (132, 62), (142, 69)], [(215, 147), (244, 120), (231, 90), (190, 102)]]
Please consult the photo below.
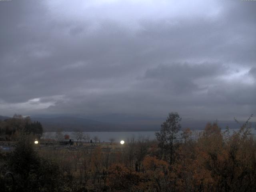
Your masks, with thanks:
[[(230, 134), (232, 134), (234, 131), (237, 131), (238, 129), (231, 129)], [(222, 130), (223, 132), (225, 129)], [(193, 138), (196, 138), (197, 135), (202, 132), (202, 130), (194, 130), (192, 131)], [(70, 136), (70, 139), (75, 138), (74, 132), (61, 132), (63, 136), (65, 134)], [(180, 134), (181, 131), (178, 133)], [(252, 134), (256, 134), (256, 130), (252, 129)], [(148, 138), (149, 140), (156, 139), (155, 132), (154, 131), (140, 131), (140, 132), (83, 132), (83, 134), (89, 134), (92, 141), (94, 141), (94, 137), (97, 136), (100, 140), (100, 142), (110, 142), (110, 139), (113, 138), (115, 142), (119, 142), (121, 140), (128, 141), (132, 138), (135, 140), (141, 140), (142, 138)], [(179, 137), (179, 136), (178, 136)], [(49, 139), (55, 139), (56, 138), (56, 132), (45, 132), (42, 138), (49, 138)], [(84, 140), (82, 140), (84, 141)]]

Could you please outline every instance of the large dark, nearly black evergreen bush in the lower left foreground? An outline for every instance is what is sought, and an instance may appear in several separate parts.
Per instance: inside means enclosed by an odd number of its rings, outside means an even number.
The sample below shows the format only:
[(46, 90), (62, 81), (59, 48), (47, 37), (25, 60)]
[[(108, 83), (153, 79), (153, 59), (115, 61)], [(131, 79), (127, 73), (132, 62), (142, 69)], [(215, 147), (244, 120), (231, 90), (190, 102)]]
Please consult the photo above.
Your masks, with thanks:
[[(67, 183), (55, 162), (41, 158), (34, 150), (34, 136), (22, 133), (15, 149), (6, 156), (7, 167), (14, 174), (16, 191), (63, 191)], [(2, 189), (2, 188), (1, 188)]]

